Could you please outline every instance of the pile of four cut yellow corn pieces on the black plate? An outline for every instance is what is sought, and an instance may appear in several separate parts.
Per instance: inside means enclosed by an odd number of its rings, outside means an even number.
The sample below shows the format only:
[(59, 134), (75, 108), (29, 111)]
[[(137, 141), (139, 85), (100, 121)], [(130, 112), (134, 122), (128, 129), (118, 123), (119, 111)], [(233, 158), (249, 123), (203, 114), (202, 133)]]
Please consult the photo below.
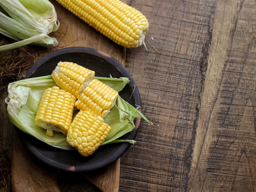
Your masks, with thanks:
[[(94, 76), (81, 65), (60, 61), (52, 72), (57, 86), (45, 89), (35, 118), (47, 136), (67, 134), (67, 142), (82, 156), (95, 152), (109, 134), (104, 117), (118, 98), (117, 91)], [(79, 112), (73, 118), (74, 109)]]

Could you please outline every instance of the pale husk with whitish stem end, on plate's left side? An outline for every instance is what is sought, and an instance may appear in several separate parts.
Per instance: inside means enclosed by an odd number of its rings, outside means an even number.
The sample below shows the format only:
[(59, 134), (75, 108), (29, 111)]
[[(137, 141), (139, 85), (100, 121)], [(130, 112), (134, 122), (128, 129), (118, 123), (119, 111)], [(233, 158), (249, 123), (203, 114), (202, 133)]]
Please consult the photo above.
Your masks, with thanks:
[[(56, 84), (51, 76), (28, 78), (10, 83), (5, 102), (10, 121), (20, 130), (49, 145), (65, 146), (63, 134), (56, 133), (53, 139), (47, 138), (45, 130), (36, 126), (34, 121), (44, 90), (54, 85)], [(67, 148), (71, 147), (67, 146)]]

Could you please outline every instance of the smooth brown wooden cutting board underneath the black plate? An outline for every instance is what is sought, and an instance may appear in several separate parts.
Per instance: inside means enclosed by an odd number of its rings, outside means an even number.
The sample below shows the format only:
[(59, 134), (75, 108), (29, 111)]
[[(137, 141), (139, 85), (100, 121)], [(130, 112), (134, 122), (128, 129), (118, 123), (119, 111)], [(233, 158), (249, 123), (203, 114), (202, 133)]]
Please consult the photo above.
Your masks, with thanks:
[[(58, 31), (53, 33), (53, 36), (59, 42), (58, 47), (55, 49), (74, 46), (91, 47), (109, 54), (125, 65), (126, 50), (124, 47), (101, 35), (54, 0), (51, 0), (51, 2), (54, 4), (60, 22)], [(51, 51), (53, 50), (49, 49), (42, 53), (41, 50), (40, 56)], [(36, 54), (36, 51), (30, 54)], [(77, 173), (77, 177), (83, 178), (85, 182), (90, 181), (99, 191), (118, 192), (119, 171), (120, 159), (96, 172)], [(60, 170), (47, 167), (30, 156), (25, 151), (15, 132), (11, 168), (11, 187), (13, 192), (65, 191), (60, 189), (57, 182), (60, 174), (63, 174)], [(68, 173), (65, 174), (67, 174), (67, 177), (69, 176)], [(70, 173), (70, 175), (73, 177), (73, 173)], [(83, 190), (85, 189), (83, 188)], [(81, 189), (79, 190), (79, 185), (76, 186), (76, 183), (74, 183), (72, 191), (81, 191)], [(89, 189), (88, 191), (92, 190)]]

